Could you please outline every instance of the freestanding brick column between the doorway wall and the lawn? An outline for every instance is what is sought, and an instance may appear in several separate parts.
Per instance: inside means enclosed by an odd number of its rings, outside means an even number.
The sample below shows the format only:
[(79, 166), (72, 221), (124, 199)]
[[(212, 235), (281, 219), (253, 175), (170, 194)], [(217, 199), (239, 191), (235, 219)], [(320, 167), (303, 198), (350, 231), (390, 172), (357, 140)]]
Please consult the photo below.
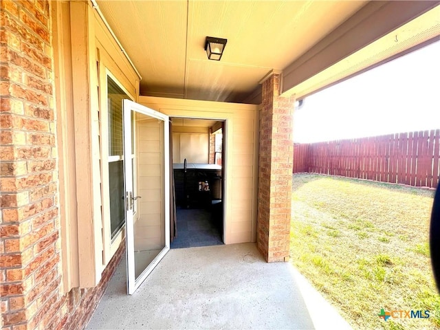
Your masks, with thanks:
[(267, 262), (289, 260), (294, 99), (279, 96), (279, 80), (263, 82), (260, 111), (257, 245)]

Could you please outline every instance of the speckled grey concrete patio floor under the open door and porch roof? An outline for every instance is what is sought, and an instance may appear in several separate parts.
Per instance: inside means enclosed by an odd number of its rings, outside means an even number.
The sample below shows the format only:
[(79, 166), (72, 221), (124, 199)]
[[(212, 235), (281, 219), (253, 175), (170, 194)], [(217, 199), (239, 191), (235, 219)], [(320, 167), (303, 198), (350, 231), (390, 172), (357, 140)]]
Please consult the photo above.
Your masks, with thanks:
[(351, 329), (289, 263), (254, 243), (170, 250), (133, 296), (118, 265), (86, 329)]

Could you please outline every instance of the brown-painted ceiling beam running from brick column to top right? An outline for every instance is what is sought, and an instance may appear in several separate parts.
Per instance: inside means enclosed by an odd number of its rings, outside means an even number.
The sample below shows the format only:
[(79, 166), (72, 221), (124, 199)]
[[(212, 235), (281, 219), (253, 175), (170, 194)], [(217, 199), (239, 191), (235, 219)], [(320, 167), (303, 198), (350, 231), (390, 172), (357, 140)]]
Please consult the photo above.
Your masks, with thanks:
[(283, 92), (439, 5), (439, 1), (371, 1), (283, 69)]

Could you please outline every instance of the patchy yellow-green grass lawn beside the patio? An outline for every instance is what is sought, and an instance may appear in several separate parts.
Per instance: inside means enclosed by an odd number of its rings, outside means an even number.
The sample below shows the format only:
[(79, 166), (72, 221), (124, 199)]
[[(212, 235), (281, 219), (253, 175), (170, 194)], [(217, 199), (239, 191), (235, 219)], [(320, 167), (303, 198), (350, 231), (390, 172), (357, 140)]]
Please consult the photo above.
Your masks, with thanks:
[[(428, 245), (433, 196), (421, 188), (296, 174), (292, 263), (354, 329), (440, 329)], [(382, 308), (428, 310), (431, 317), (384, 321)]]

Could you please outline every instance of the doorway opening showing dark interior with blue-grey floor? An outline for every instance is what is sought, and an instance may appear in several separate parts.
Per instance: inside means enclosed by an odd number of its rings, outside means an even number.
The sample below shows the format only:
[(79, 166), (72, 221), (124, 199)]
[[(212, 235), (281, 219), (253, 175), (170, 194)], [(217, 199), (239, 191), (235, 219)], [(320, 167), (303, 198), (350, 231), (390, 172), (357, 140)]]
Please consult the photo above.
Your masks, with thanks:
[(225, 121), (170, 118), (170, 122), (175, 194), (170, 248), (223, 244)]

